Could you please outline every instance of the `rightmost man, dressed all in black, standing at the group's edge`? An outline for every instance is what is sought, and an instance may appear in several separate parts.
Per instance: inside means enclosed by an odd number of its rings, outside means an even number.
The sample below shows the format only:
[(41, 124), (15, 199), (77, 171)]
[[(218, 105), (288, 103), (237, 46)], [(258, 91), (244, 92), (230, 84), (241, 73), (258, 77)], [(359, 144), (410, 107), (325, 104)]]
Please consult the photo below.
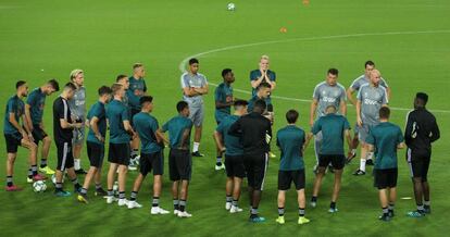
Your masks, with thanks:
[[(427, 174), (432, 158), (432, 142), (439, 139), (436, 117), (425, 109), (428, 96), (418, 92), (414, 99), (414, 110), (408, 114), (404, 140), (408, 146), (407, 160), (410, 164), (417, 210), (409, 212), (411, 217), (422, 217), (430, 213), (429, 186)], [(423, 200), (424, 202), (423, 202)]]

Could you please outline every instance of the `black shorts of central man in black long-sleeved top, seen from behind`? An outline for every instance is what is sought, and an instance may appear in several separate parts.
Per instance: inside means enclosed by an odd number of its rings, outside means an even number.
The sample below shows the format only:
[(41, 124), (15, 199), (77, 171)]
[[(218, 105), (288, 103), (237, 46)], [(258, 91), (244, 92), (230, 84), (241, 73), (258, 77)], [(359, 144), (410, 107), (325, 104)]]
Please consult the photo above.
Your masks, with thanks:
[(249, 186), (254, 190), (264, 189), (265, 173), (267, 172), (268, 157), (262, 154), (243, 154), (243, 166), (246, 167)]

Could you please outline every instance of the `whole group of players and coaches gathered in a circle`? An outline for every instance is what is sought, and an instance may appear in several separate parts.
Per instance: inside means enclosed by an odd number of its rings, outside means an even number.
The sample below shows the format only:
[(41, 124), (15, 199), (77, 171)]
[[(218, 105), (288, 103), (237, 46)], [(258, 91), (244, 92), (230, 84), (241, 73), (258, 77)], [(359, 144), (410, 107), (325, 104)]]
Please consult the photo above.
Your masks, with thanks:
[[(239, 198), (242, 179), (247, 177), (250, 201), (249, 221), (264, 222), (259, 214), (261, 194), (267, 171), (268, 159), (276, 158), (271, 152), (274, 140), (280, 150), (278, 172), (278, 219), (285, 223), (285, 197), (291, 184), (298, 192), (298, 224), (309, 223), (305, 217), (305, 174), (303, 153), (313, 139), (316, 154), (315, 179), (310, 205), (317, 205), (318, 191), (325, 171), (335, 175), (334, 190), (329, 212), (335, 213), (340, 190), (342, 170), (355, 157), (361, 144), (360, 169), (353, 174), (365, 175), (365, 166), (374, 165), (374, 186), (379, 190), (383, 213), (382, 221), (393, 217), (397, 198), (398, 176), (397, 149), (407, 145), (407, 160), (411, 170), (417, 210), (408, 212), (409, 216), (422, 217), (430, 213), (429, 185), (427, 172), (430, 163), (432, 142), (439, 139), (439, 128), (435, 116), (425, 109), (428, 96), (417, 92), (414, 109), (408, 114), (404, 133), (389, 122), (388, 98), (390, 89), (382, 78), (380, 72), (372, 61), (365, 62), (365, 73), (358, 77), (346, 90), (337, 83), (338, 70), (330, 68), (326, 79), (320, 83), (313, 92), (310, 110), (311, 130), (305, 132), (297, 122), (299, 113), (289, 110), (286, 113), (287, 125), (276, 133), (273, 139), (274, 108), (271, 95), (276, 88), (276, 74), (268, 68), (268, 57), (262, 55), (259, 68), (250, 72), (252, 97), (250, 100), (236, 99), (232, 84), (235, 82), (230, 68), (222, 72), (224, 82), (214, 92), (216, 144), (215, 170), (226, 170), (226, 203), (230, 213), (241, 212)], [(160, 207), (163, 176), (163, 149), (168, 145), (168, 173), (173, 182), (173, 213), (179, 217), (190, 217), (186, 210), (188, 186), (191, 179), (192, 157), (203, 157), (199, 151), (204, 120), (203, 96), (209, 92), (207, 77), (200, 74), (199, 61), (190, 59), (188, 72), (180, 77), (183, 100), (176, 104), (177, 114), (159, 126), (151, 115), (153, 98), (147, 95), (145, 67), (140, 63), (133, 66), (133, 76), (118, 75), (111, 86), (98, 89), (98, 102), (86, 110), (86, 89), (84, 72), (71, 72), (70, 82), (64, 85), (61, 95), (53, 102), (53, 137), (58, 150), (58, 165), (53, 171), (47, 165), (51, 138), (47, 135), (43, 117), (46, 97), (59, 91), (55, 79), (47, 82), (28, 95), (26, 82), (16, 83), (16, 95), (7, 103), (3, 133), (7, 142), (7, 191), (20, 191), (13, 183), (13, 166), (17, 147), (29, 150), (29, 170), (27, 183), (47, 179), (41, 172), (55, 176), (54, 195), (71, 196), (63, 189), (63, 176), (66, 174), (74, 185), (74, 191), (80, 202), (88, 203), (90, 184), (95, 183), (95, 196), (104, 197), (107, 203), (117, 201), (120, 207), (141, 208), (137, 195), (147, 174), (153, 172), (153, 199), (151, 214), (168, 214)], [(358, 91), (357, 99), (353, 93)], [(27, 97), (26, 102), (24, 98)], [(357, 124), (353, 138), (346, 118), (347, 99), (357, 109)], [(232, 107), (234, 113), (232, 114)], [(21, 124), (22, 120), (22, 124)], [(90, 167), (86, 172), (80, 167), (80, 153), (85, 142)], [(190, 150), (191, 129), (195, 128), (193, 146)], [(101, 185), (101, 169), (104, 157), (104, 142), (109, 129), (109, 151), (107, 190)], [(168, 138), (164, 135), (168, 134)], [(404, 134), (404, 136), (403, 136)], [(348, 154), (345, 155), (345, 140)], [(41, 141), (40, 167), (37, 166), (38, 145)], [(140, 153), (139, 153), (140, 145)], [(225, 160), (223, 161), (223, 157)], [(128, 170), (139, 169), (129, 200), (125, 198), (125, 184)], [(86, 174), (83, 185), (77, 175)], [(117, 178), (115, 177), (117, 174)], [(118, 195), (113, 186), (117, 180)]]

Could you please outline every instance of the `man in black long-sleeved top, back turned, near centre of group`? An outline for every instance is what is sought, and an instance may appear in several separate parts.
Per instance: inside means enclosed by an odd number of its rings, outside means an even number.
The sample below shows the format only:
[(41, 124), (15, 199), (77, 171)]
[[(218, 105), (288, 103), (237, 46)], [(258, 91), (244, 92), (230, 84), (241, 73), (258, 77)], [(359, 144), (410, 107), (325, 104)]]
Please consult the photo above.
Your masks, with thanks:
[(250, 222), (253, 223), (265, 221), (264, 217), (258, 215), (258, 205), (267, 170), (268, 142), (272, 138), (271, 121), (262, 115), (265, 110), (264, 100), (257, 100), (253, 112), (240, 117), (228, 130), (229, 135), (240, 137), (243, 145), (243, 165), (247, 172), (251, 205)]

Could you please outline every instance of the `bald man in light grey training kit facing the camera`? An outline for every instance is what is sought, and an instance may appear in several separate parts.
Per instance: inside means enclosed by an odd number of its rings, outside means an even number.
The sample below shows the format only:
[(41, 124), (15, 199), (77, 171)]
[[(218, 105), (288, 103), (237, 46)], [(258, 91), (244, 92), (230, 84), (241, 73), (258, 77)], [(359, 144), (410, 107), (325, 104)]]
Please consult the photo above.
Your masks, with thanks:
[(353, 175), (365, 175), (365, 161), (367, 159), (366, 138), (371, 127), (379, 124), (379, 109), (387, 107), (388, 93), (385, 87), (380, 86), (382, 73), (373, 70), (370, 73), (368, 84), (361, 86), (357, 96), (357, 123), (358, 137), (361, 142), (361, 161), (360, 169)]

